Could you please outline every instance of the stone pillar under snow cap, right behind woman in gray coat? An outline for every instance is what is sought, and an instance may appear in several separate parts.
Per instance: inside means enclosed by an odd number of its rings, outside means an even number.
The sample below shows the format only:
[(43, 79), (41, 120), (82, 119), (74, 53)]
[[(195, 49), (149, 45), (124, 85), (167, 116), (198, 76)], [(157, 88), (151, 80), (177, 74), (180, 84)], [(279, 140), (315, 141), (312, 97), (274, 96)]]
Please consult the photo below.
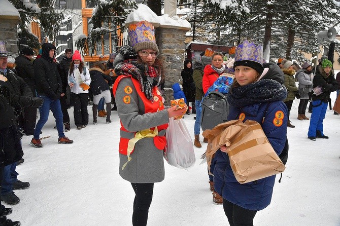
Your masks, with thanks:
[(156, 43), (159, 48), (159, 58), (162, 60), (165, 76), (164, 105), (169, 106), (174, 99), (172, 85), (182, 84), (181, 70), (184, 61), (185, 33), (187, 30), (177, 28), (156, 28)]

